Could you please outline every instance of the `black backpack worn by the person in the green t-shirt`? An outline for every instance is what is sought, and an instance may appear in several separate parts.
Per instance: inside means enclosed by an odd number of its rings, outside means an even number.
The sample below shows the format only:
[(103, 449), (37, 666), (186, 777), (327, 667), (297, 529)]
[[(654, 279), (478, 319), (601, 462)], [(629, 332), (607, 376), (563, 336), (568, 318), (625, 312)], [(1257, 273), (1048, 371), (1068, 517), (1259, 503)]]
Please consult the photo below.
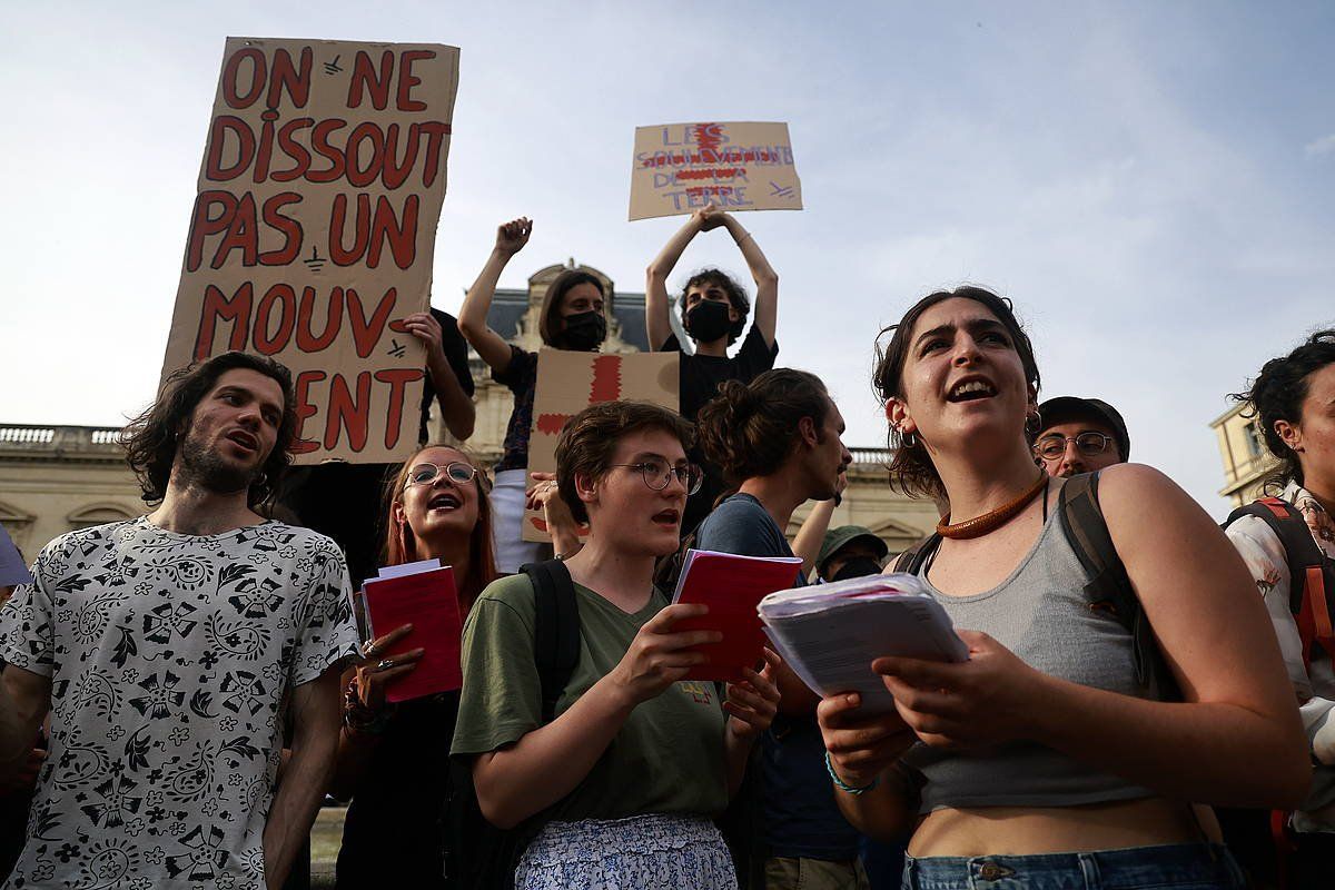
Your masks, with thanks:
[[(570, 570), (559, 559), (529, 563), (521, 571), (533, 582), (533, 660), (542, 685), (542, 722), (546, 725), (555, 719), (557, 699), (579, 660), (579, 607)], [(513, 890), (519, 857), (549, 818), (538, 813), (510, 830), (493, 826), (478, 805), (471, 765), (451, 758), (445, 818), (446, 886)]]

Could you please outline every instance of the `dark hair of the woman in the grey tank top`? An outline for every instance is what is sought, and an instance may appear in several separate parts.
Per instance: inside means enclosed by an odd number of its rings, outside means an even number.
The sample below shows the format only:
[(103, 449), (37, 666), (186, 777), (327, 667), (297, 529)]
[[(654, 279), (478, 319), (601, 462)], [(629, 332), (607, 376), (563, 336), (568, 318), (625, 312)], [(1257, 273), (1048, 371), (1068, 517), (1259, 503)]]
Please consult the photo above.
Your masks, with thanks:
[[(1039, 364), (1033, 358), (1033, 343), (1024, 327), (1015, 318), (1015, 308), (1011, 300), (997, 296), (992, 291), (981, 287), (965, 286), (953, 291), (936, 291), (928, 294), (904, 314), (897, 324), (890, 324), (876, 335), (876, 371), (872, 374), (872, 388), (884, 407), (889, 399), (904, 398), (904, 364), (909, 358), (909, 339), (913, 335), (913, 326), (918, 318), (937, 303), (951, 299), (965, 299), (981, 303), (1011, 334), (1016, 352), (1020, 354), (1020, 363), (1024, 366), (1024, 379), (1037, 392), (1041, 386), (1039, 378)], [(890, 335), (889, 343), (881, 346), (881, 338)], [(914, 439), (912, 444), (904, 442), (904, 436), (890, 424), (888, 434), (890, 450), (894, 456), (890, 459), (890, 488), (900, 491), (909, 498), (944, 498), (945, 488), (941, 486), (941, 476), (928, 456), (926, 447), (921, 439)]]

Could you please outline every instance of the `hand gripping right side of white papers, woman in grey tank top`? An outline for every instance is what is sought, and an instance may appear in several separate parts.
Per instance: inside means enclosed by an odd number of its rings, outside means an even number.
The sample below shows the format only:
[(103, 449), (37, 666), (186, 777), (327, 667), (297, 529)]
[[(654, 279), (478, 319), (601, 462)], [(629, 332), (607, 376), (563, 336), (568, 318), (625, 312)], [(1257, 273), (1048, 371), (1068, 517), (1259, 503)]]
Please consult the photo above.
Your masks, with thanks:
[(933, 747), (977, 749), (1025, 738), (1035, 705), (1045, 701), (1044, 675), (987, 634), (959, 634), (969, 647), (967, 662), (872, 662), (900, 717)]

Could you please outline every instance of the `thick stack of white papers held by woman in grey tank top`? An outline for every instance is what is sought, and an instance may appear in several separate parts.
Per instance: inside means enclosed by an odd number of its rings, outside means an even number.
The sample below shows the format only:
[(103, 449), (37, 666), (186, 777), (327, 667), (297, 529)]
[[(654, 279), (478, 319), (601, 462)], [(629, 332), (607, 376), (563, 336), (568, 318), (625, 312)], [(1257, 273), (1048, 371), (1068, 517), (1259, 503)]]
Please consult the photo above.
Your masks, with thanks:
[(882, 655), (963, 662), (969, 648), (914, 575), (872, 575), (770, 594), (757, 606), (765, 632), (821, 695), (860, 693), (870, 713), (894, 707), (872, 662)]

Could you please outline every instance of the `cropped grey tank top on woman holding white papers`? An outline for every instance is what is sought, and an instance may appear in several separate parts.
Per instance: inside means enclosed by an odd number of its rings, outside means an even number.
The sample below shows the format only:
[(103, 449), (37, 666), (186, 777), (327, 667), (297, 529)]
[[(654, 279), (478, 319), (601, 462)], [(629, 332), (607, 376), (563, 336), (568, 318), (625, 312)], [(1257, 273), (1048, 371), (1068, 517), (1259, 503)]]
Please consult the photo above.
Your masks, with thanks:
[[(1053, 510), (1011, 576), (973, 596), (947, 596), (924, 583), (955, 626), (993, 636), (1027, 664), (1060, 679), (1145, 698), (1136, 683), (1131, 634), (1089, 608), (1089, 580)], [(928, 567), (930, 563), (928, 563)], [(920, 813), (941, 807), (1079, 806), (1155, 793), (1033, 742), (987, 751), (947, 751), (916, 743), (904, 765), (920, 774)]]

